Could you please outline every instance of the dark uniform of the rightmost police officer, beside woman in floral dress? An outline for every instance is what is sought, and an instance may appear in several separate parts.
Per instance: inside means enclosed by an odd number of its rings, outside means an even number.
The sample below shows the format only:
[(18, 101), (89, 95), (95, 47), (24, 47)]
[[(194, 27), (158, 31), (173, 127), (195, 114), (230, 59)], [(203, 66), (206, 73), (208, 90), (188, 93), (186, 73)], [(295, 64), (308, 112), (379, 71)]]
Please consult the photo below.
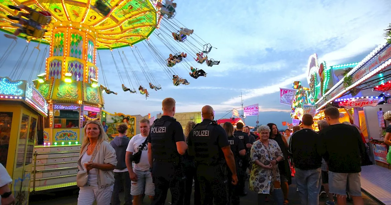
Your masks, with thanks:
[(241, 157), (242, 164), (239, 167), (239, 172), (238, 172), (239, 182), (238, 182), (238, 187), (237, 187), (237, 190), (236, 190), (236, 191), (238, 191), (238, 194), (241, 195), (241, 194), (245, 193), (245, 191), (244, 191), (244, 182), (247, 179), (246, 171), (247, 171), (247, 168), (248, 168), (248, 165), (249, 165), (249, 157), (250, 157), (250, 150), (246, 147), (246, 144), (250, 143), (250, 138), (249, 138), (248, 134), (246, 134), (243, 131), (237, 130), (237, 131), (235, 131), (234, 134), (242, 141), (243, 146), (246, 149), (246, 155)]

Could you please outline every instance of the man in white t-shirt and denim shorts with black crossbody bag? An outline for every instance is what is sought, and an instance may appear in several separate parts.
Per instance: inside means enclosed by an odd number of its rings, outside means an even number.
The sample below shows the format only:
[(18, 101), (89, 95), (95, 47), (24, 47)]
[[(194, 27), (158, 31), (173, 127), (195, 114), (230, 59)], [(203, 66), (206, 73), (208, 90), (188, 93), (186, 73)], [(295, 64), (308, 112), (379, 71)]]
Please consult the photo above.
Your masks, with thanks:
[[(147, 137), (149, 134), (149, 120), (140, 120), (141, 134), (133, 136), (126, 149), (126, 166), (132, 180), (131, 191), (133, 204), (141, 205), (143, 194), (148, 195), (151, 200), (155, 195), (155, 184), (152, 182), (152, 175), (149, 171)], [(141, 150), (142, 148), (142, 150)], [(131, 156), (133, 153), (141, 152), (140, 162), (134, 163), (132, 168)]]

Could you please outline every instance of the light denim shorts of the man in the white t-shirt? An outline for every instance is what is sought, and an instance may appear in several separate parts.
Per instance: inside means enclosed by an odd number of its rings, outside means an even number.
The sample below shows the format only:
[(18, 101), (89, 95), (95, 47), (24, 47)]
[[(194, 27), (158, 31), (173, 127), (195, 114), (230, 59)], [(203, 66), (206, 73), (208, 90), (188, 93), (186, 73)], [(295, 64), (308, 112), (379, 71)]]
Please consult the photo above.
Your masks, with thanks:
[(130, 187), (130, 194), (132, 194), (133, 196), (141, 194), (154, 196), (155, 184), (152, 182), (151, 172), (149, 172), (149, 170), (141, 171), (137, 169), (133, 169), (133, 172), (137, 176), (137, 182), (132, 181), (132, 185)]

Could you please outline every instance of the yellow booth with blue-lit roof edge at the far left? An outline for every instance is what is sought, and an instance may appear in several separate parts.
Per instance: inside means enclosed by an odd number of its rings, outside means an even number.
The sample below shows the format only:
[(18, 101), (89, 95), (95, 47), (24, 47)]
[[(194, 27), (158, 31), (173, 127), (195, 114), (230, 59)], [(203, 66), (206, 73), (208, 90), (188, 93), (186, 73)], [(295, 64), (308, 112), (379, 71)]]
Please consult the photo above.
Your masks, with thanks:
[(29, 200), (34, 144), (46, 116), (47, 102), (33, 84), (0, 77), (0, 162), (13, 179), (16, 204)]

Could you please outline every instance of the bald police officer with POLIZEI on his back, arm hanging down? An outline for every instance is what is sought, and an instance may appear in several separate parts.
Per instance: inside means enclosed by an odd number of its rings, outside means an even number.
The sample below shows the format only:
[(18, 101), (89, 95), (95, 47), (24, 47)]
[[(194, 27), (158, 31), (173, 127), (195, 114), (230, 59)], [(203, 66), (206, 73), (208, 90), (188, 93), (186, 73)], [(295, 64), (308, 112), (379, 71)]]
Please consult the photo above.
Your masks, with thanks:
[[(232, 172), (232, 184), (238, 182), (235, 159), (225, 130), (213, 121), (213, 108), (202, 108), (204, 120), (188, 136), (189, 155), (194, 156), (200, 187), (201, 205), (227, 205), (228, 178), (226, 164)], [(231, 180), (230, 180), (231, 181)]]

